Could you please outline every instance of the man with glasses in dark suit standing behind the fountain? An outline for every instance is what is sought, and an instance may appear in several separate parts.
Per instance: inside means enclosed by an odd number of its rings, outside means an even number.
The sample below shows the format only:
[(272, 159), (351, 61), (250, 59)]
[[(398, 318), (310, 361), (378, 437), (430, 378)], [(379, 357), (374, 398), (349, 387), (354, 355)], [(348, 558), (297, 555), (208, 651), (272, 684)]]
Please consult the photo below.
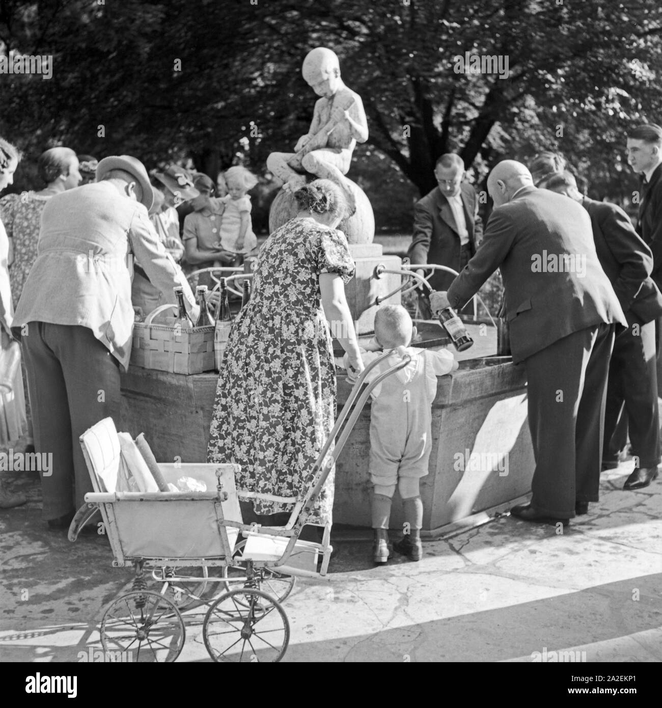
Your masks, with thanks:
[[(413, 239), (407, 256), (414, 265), (447, 265), (460, 273), (476, 253), (483, 233), (478, 199), (472, 185), (462, 181), (464, 162), (459, 155), (442, 155), (435, 166), (435, 177), (439, 186), (414, 207)], [(423, 270), (417, 272), (424, 275)], [(448, 290), (455, 275), (435, 270), (429, 280), (434, 290)], [(418, 307), (423, 319), (432, 317), (427, 297), (419, 295)], [(464, 313), (475, 314), (473, 301)]]

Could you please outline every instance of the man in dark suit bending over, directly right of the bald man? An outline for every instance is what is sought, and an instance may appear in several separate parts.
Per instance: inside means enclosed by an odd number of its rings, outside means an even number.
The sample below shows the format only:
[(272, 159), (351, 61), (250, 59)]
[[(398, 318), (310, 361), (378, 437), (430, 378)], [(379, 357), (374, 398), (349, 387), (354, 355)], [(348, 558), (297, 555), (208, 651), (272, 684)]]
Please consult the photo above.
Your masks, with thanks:
[(588, 212), (600, 265), (627, 318), (629, 327), (617, 334), (609, 365), (603, 459), (625, 402), (637, 464), (623, 489), (642, 489), (656, 478), (660, 462), (654, 323), (662, 316), (662, 294), (649, 277), (653, 254), (620, 207), (584, 197), (571, 173), (553, 176), (547, 189), (579, 202)]

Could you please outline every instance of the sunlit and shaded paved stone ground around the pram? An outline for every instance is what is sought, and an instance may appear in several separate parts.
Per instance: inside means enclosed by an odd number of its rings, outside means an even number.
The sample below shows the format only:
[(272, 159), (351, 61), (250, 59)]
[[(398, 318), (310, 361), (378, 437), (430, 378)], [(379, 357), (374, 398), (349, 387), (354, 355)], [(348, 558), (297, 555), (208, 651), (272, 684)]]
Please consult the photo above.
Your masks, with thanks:
[[(662, 661), (662, 482), (624, 492), (631, 469), (604, 473), (600, 503), (563, 535), (502, 516), (379, 568), (367, 535), (339, 535), (328, 579), (299, 578), (285, 600), (284, 661)], [(0, 511), (0, 661), (77, 661), (132, 573), (110, 566), (105, 537), (47, 530), (36, 474), (3, 479), (30, 502)], [(210, 661), (203, 617), (185, 614), (178, 661)]]

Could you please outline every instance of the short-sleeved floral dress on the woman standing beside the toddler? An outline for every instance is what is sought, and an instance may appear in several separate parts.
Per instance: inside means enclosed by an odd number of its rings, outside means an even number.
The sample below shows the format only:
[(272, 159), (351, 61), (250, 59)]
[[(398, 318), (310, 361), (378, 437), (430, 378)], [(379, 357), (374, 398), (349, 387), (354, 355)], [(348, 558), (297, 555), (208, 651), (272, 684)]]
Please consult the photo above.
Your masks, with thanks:
[[(220, 372), (207, 459), (236, 462), (239, 489), (299, 496), (333, 428), (336, 370), (320, 273), (354, 275), (347, 239), (295, 218), (262, 246), (249, 304), (234, 322)], [(292, 507), (254, 502), (258, 514)], [(333, 470), (309, 523), (331, 523)]]

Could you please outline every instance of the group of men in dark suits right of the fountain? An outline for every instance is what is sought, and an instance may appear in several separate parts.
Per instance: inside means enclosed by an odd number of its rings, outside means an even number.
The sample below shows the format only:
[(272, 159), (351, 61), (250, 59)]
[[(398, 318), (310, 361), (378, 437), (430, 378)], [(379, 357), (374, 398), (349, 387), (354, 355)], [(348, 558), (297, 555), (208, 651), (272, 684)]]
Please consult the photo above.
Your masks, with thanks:
[(598, 501), (600, 472), (617, 466), (628, 433), (634, 469), (624, 489), (642, 489), (658, 476), (662, 128), (633, 128), (627, 159), (641, 175), (636, 227), (617, 205), (583, 194), (578, 182), (586, 181), (550, 152), (530, 169), (506, 160), (491, 171), (495, 208), (468, 260), (469, 234), (481, 228), (475, 195), (462, 188), (461, 162), (442, 156), (439, 188), (416, 205), (412, 263), (461, 271), (447, 291), (430, 298), (433, 312), (466, 307), (501, 270), (501, 316), (513, 362), (527, 372), (536, 460), (531, 502), (510, 510), (523, 520), (565, 525), (588, 513)]

